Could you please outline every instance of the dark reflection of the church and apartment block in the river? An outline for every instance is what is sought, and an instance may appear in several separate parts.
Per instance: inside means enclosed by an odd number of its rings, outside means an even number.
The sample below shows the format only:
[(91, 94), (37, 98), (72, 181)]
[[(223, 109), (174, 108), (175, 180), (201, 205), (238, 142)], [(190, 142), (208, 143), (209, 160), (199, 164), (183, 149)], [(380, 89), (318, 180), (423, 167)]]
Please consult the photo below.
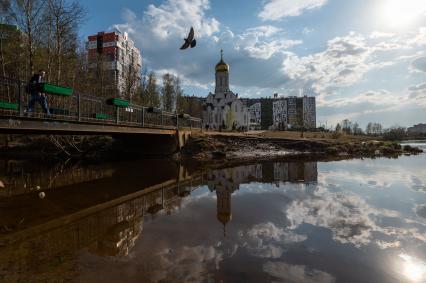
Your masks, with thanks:
[(239, 190), (240, 184), (250, 182), (275, 183), (315, 183), (318, 180), (317, 162), (264, 162), (228, 169), (212, 170), (207, 174), (207, 184), (211, 192), (216, 192), (217, 220), (226, 225), (232, 220), (231, 196)]

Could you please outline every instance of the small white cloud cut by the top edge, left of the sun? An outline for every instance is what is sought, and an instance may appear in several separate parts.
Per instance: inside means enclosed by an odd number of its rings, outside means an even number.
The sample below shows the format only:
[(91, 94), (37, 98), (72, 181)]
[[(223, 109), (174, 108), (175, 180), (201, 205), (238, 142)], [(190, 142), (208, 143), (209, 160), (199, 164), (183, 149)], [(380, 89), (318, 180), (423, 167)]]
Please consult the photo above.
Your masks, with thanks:
[(274, 21), (284, 17), (299, 16), (305, 10), (319, 8), (326, 3), (327, 0), (269, 0), (258, 16), (264, 21)]

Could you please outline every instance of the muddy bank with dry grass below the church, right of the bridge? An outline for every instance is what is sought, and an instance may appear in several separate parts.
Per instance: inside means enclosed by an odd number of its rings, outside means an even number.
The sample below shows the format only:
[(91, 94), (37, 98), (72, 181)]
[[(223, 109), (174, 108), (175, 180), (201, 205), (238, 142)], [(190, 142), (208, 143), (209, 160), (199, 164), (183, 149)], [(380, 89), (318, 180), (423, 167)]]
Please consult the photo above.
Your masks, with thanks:
[(360, 158), (418, 154), (422, 150), (389, 141), (339, 141), (315, 139), (265, 138), (259, 136), (198, 135), (184, 147), (184, 160), (259, 160), (291, 156), (315, 158)]

